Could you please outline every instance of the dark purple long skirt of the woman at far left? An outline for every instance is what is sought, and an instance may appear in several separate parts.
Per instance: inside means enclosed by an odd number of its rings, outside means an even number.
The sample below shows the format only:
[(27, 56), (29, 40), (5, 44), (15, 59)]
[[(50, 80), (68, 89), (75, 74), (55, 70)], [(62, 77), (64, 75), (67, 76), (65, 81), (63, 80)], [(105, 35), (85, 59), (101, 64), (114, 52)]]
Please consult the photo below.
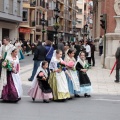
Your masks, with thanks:
[(5, 101), (19, 100), (17, 89), (15, 88), (11, 72), (7, 72), (7, 85), (3, 87), (1, 99)]

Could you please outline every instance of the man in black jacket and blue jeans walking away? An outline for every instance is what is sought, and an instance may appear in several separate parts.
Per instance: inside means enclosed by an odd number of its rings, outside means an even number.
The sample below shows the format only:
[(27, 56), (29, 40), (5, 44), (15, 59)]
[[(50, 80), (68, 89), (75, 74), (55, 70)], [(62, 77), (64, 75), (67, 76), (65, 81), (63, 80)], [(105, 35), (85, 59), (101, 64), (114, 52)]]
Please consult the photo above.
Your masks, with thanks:
[(44, 46), (42, 46), (42, 42), (39, 42), (39, 45), (37, 46), (34, 53), (34, 58), (33, 58), (34, 66), (33, 66), (32, 76), (28, 79), (29, 81), (33, 81), (37, 69), (40, 66), (40, 63), (45, 60), (45, 57), (46, 57), (46, 49)]

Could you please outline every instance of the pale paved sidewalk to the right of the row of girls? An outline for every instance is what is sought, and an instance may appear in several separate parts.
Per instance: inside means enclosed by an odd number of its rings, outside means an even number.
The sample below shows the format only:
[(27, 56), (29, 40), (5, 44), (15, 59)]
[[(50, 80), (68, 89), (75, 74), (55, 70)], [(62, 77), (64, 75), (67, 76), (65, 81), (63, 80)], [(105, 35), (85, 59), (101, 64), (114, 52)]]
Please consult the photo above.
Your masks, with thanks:
[(93, 94), (102, 95), (120, 95), (120, 84), (115, 83), (115, 71), (110, 75), (110, 70), (103, 69), (98, 53), (95, 55), (96, 66), (88, 71), (90, 77)]

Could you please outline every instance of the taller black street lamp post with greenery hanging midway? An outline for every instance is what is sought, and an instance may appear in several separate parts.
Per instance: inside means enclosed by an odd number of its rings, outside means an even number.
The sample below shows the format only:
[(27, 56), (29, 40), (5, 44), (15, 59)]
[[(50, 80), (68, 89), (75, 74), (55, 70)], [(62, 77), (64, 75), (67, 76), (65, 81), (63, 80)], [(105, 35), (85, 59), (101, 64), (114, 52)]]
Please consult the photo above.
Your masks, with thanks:
[(54, 24), (54, 29), (55, 29), (55, 49), (58, 48), (58, 37), (57, 37), (57, 34), (58, 34), (58, 29), (60, 27), (59, 23), (58, 23), (58, 18), (59, 18), (59, 13), (60, 13), (60, 10), (58, 8), (58, 1), (56, 0), (56, 7), (54, 9), (54, 14), (55, 14), (55, 24)]

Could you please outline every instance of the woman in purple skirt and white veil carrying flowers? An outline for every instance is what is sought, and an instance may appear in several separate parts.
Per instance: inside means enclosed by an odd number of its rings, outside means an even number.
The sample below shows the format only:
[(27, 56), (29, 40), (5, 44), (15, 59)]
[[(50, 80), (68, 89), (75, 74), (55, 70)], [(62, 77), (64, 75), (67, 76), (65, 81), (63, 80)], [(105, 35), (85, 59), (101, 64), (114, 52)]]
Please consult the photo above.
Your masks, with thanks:
[(1, 99), (7, 102), (17, 102), (21, 99), (22, 84), (19, 75), (20, 64), (15, 47), (11, 49), (11, 54), (6, 56), (3, 67), (1, 80), (4, 80), (4, 86)]

